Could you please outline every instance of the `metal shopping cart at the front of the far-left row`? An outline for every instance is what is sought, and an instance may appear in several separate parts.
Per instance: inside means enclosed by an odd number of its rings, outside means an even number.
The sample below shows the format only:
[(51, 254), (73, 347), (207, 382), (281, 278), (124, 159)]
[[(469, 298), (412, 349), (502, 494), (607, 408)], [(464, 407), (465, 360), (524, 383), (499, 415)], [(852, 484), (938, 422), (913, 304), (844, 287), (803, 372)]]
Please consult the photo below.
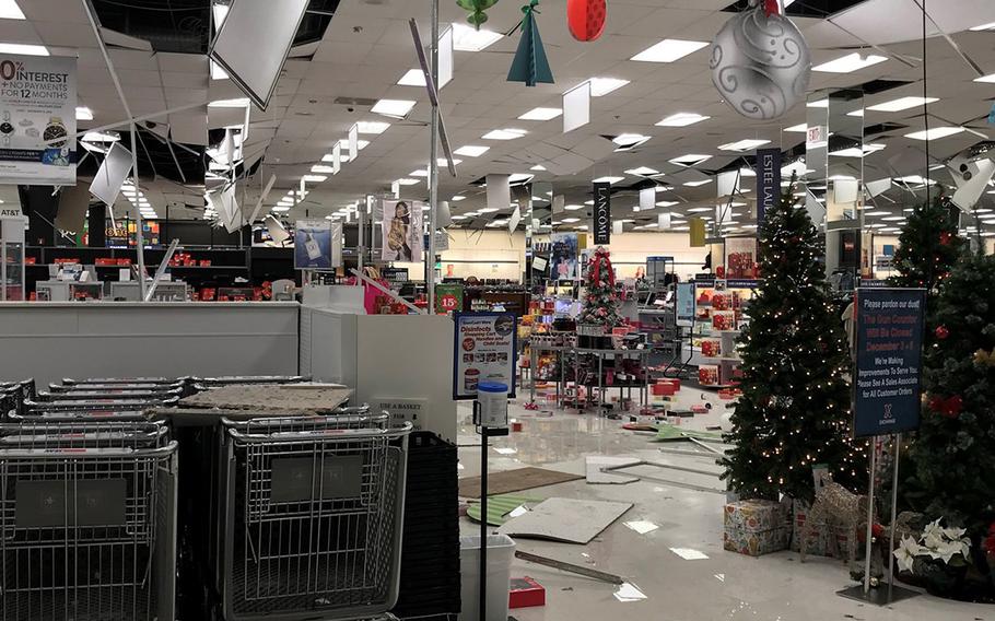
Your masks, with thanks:
[(0, 427), (0, 619), (173, 621), (176, 443), (141, 425)]

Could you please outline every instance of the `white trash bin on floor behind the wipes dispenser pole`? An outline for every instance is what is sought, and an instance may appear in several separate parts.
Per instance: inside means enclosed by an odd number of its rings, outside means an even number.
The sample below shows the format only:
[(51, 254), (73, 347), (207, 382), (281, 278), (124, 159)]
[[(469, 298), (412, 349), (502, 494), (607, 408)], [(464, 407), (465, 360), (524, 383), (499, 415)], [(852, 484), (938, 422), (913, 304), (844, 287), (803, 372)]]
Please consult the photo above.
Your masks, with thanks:
[[(507, 535), (488, 537), (488, 618), (507, 621), (508, 588), (515, 541)], [(480, 619), (480, 537), (459, 538), (460, 599), (459, 621)]]

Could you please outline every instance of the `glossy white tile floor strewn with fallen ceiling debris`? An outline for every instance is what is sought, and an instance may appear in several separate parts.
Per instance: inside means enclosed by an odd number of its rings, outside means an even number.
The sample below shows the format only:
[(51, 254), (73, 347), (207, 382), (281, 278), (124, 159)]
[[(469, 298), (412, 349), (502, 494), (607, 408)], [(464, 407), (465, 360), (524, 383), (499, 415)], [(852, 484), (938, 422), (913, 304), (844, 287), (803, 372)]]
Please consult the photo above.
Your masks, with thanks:
[[(701, 392), (684, 388), (679, 400), (700, 402)], [(688, 424), (703, 429), (717, 424), (725, 403), (714, 395), (709, 414)], [(700, 469), (718, 470), (710, 458), (665, 455), (651, 435), (621, 429), (620, 421), (593, 413), (557, 410), (549, 415), (529, 412), (523, 400), (513, 401), (510, 413), (524, 423), (519, 433), (492, 440), (489, 470), (540, 466), (583, 474), (588, 455), (633, 456)], [(470, 406), (460, 403), (460, 477), (480, 472), (479, 437), (470, 424)], [(473, 446), (476, 445), (476, 446)], [(499, 449), (514, 449), (514, 453)], [(995, 607), (965, 605), (927, 595), (878, 608), (844, 599), (836, 590), (851, 586), (845, 564), (809, 556), (805, 564), (793, 552), (753, 559), (722, 549), (722, 508), (725, 496), (668, 484), (657, 479), (724, 488), (714, 477), (681, 473), (652, 467), (627, 472), (644, 476), (628, 484), (588, 484), (577, 480), (529, 490), (537, 497), (576, 497), (622, 501), (634, 506), (586, 546), (519, 538), (518, 549), (570, 563), (619, 574), (636, 585), (647, 598), (619, 601), (616, 586), (547, 569), (525, 561), (513, 562), (512, 575), (528, 575), (547, 589), (547, 604), (511, 613), (519, 621), (992, 621)], [(645, 534), (625, 522), (657, 526)], [(479, 525), (461, 518), (465, 535), (477, 535)], [(678, 553), (700, 552), (707, 559), (684, 560)], [(693, 554), (690, 555), (700, 555)]]

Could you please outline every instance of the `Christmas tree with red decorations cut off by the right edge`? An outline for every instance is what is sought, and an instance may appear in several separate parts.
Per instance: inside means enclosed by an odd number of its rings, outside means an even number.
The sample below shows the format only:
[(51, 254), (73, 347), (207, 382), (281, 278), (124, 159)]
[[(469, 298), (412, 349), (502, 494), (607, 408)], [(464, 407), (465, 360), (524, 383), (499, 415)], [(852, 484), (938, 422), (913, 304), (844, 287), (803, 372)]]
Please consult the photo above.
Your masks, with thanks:
[(978, 542), (995, 522), (995, 257), (965, 257), (945, 280), (906, 500)]

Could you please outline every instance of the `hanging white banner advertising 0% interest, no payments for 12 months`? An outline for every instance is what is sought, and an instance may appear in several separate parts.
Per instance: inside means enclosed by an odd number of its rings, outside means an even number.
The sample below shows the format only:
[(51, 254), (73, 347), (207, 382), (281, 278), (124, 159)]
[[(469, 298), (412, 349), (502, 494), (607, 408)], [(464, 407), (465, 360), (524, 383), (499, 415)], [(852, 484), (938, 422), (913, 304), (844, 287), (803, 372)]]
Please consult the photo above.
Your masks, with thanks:
[(0, 183), (77, 181), (77, 59), (0, 55)]

